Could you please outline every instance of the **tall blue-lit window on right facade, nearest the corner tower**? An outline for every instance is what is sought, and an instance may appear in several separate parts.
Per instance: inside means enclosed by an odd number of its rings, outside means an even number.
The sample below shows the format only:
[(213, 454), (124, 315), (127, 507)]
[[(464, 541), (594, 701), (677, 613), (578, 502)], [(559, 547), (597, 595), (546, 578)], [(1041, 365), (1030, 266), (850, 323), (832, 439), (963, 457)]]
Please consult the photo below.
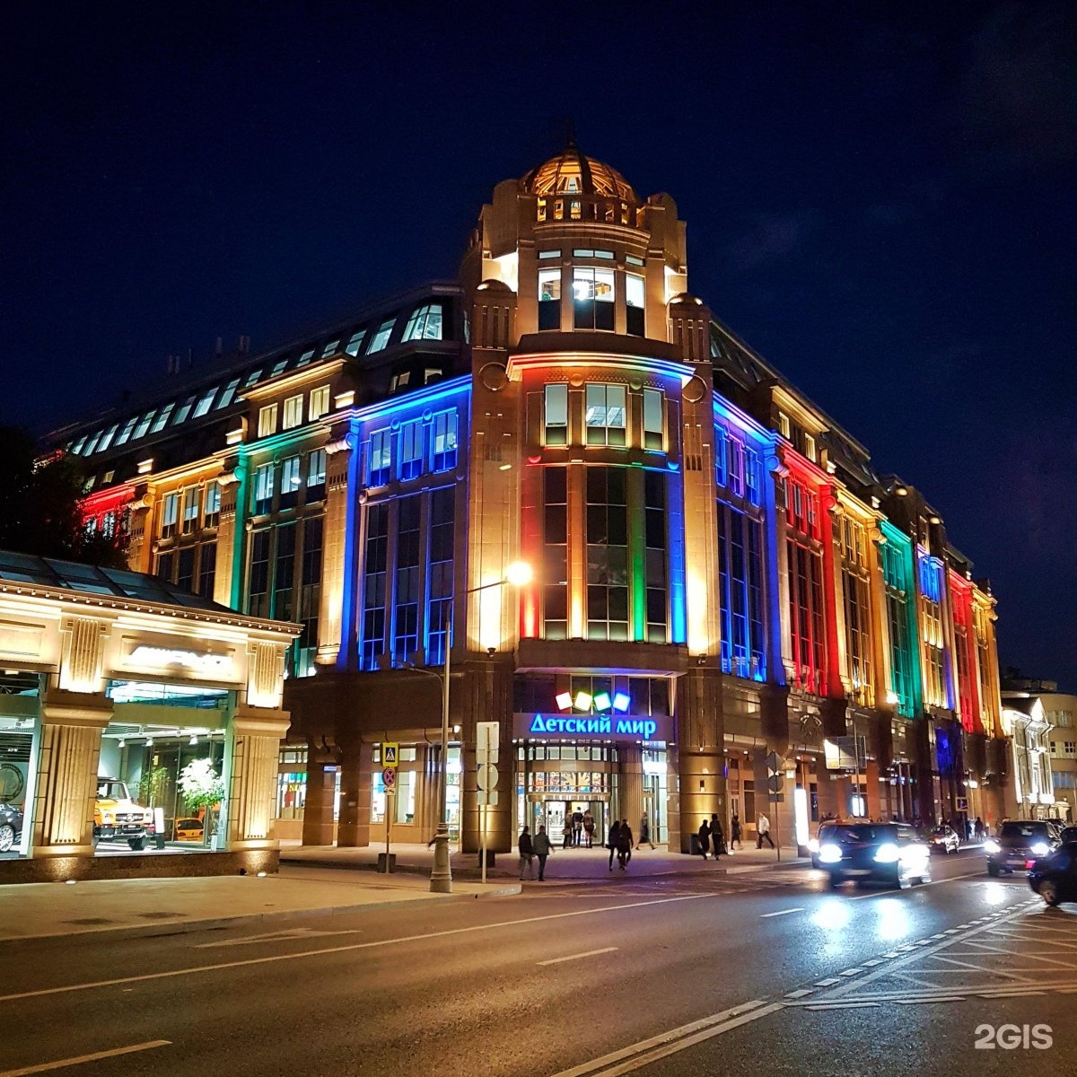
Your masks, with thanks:
[(763, 524), (718, 502), (718, 605), (722, 670), (764, 680)]

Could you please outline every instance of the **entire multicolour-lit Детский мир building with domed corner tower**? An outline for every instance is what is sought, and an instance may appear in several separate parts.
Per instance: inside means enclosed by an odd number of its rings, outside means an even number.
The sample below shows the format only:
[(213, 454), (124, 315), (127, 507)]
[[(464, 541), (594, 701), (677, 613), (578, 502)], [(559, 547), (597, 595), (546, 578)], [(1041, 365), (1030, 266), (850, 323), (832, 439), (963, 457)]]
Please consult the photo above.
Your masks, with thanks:
[(498, 851), (574, 810), (686, 852), (712, 812), (1001, 815), (990, 590), (687, 288), (673, 200), (570, 145), (498, 184), (458, 281), (57, 435), (134, 565), (303, 626), (279, 836), (433, 833), (446, 646), (467, 850), (486, 721)]

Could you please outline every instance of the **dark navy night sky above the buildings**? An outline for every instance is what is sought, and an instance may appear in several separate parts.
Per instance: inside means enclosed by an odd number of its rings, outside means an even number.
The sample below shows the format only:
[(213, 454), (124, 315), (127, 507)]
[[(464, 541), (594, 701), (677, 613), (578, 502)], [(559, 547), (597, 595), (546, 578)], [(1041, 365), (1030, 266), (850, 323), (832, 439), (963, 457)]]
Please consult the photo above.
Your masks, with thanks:
[(924, 490), (1003, 666), (1077, 690), (1074, 4), (46, 2), (0, 31), (0, 422), (451, 277), (571, 116), (674, 197), (691, 291)]

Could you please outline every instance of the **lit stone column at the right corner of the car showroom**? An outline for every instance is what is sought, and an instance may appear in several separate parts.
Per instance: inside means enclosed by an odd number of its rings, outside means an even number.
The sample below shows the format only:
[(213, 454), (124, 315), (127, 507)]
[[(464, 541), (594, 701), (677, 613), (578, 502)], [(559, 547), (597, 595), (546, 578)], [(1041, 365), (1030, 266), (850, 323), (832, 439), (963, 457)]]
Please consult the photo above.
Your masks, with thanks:
[(280, 742), (288, 732), (286, 711), (237, 708), (225, 742), (225, 849), (276, 849), (269, 837), (277, 810)]

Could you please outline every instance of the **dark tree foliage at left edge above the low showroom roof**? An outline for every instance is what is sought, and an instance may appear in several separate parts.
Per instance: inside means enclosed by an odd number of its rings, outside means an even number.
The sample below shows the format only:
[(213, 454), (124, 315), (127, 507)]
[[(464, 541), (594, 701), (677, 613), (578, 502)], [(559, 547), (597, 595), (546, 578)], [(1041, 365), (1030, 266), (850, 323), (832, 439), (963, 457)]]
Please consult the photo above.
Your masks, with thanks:
[[(117, 533), (88, 534), (79, 501), (85, 475), (78, 457), (42, 459), (33, 437), (0, 426), (0, 549), (38, 557), (124, 568), (125, 542)], [(117, 529), (118, 531), (118, 529)]]

